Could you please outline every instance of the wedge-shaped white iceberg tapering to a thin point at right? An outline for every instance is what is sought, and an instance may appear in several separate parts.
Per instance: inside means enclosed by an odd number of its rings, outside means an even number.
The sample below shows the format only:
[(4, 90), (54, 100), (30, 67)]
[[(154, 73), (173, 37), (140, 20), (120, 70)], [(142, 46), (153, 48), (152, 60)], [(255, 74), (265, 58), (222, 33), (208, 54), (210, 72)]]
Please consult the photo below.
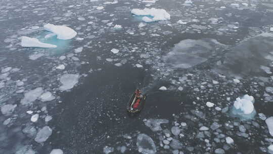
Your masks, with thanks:
[(38, 48), (57, 48), (56, 45), (41, 43), (37, 38), (31, 38), (22, 36), (21, 38), (22, 47), (38, 47)]

